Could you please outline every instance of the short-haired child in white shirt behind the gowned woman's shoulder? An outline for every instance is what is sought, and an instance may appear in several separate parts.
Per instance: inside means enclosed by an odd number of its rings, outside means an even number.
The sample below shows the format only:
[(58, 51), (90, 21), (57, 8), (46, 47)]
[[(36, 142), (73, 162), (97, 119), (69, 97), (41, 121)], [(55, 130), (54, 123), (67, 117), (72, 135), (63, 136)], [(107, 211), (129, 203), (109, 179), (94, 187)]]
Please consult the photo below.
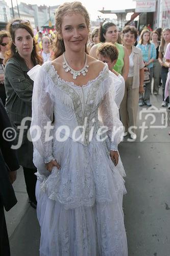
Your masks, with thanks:
[(113, 69), (118, 58), (118, 50), (116, 46), (114, 46), (111, 42), (105, 42), (101, 44), (100, 47), (97, 49), (97, 56), (99, 60), (107, 63), (109, 70), (119, 78), (114, 83), (115, 102), (117, 104), (117, 108), (119, 109), (120, 103), (122, 102), (125, 93), (125, 80), (122, 75), (120, 75)]

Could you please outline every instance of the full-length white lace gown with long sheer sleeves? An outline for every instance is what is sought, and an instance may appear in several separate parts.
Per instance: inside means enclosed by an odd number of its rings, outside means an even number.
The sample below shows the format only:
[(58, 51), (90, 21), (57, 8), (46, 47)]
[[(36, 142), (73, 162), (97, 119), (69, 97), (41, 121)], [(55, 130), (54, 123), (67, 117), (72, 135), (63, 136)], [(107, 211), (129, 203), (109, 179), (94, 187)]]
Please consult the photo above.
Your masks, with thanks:
[[(121, 161), (115, 167), (109, 156), (110, 150), (117, 150), (123, 130), (114, 102), (118, 78), (105, 66), (98, 77), (78, 87), (61, 79), (51, 62), (36, 66), (29, 75), (34, 79), (40, 255), (127, 256), (124, 169)], [(54, 117), (53, 129), (44, 128)], [(106, 131), (99, 133), (101, 121), (108, 127), (107, 139)], [(47, 131), (52, 140), (46, 141)], [(61, 168), (50, 173), (45, 162), (52, 159)]]

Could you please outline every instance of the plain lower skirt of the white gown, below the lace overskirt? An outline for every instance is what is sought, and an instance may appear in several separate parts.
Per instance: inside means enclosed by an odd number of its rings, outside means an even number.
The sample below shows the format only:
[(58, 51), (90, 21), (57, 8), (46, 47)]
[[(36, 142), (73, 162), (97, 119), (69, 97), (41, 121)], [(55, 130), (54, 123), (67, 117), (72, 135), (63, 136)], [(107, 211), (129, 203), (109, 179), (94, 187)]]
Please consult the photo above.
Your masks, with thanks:
[(40, 256), (128, 256), (122, 207), (98, 203), (66, 210), (36, 185)]

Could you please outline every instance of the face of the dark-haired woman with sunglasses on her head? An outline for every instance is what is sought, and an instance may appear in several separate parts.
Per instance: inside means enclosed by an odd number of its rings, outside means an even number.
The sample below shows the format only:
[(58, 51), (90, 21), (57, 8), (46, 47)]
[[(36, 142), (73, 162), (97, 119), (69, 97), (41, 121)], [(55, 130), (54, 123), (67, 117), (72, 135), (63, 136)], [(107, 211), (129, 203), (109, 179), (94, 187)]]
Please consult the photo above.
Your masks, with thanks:
[(19, 28), (15, 31), (14, 45), (22, 58), (31, 56), (33, 50), (33, 38), (26, 29)]

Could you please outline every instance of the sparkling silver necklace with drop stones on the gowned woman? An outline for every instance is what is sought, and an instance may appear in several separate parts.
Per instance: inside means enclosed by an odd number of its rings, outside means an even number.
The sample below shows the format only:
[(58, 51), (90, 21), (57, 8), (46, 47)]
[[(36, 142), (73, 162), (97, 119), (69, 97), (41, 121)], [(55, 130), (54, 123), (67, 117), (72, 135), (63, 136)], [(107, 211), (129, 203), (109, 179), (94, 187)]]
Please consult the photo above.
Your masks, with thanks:
[(67, 60), (66, 60), (66, 58), (65, 58), (65, 52), (63, 52), (63, 59), (64, 59), (64, 61), (63, 61), (63, 68), (65, 69), (65, 72), (66, 72), (66, 73), (70, 71), (70, 73), (72, 74), (72, 78), (73, 78), (73, 79), (76, 80), (76, 78), (77, 78), (78, 76), (80, 76), (81, 74), (82, 74), (83, 76), (85, 76), (86, 73), (88, 72), (89, 66), (87, 65), (87, 54), (86, 54), (86, 53), (85, 53), (85, 65), (84, 65), (83, 69), (81, 69), (81, 70), (79, 70), (79, 71), (76, 71), (76, 70), (72, 69), (72, 68), (68, 65), (68, 62), (67, 62)]

